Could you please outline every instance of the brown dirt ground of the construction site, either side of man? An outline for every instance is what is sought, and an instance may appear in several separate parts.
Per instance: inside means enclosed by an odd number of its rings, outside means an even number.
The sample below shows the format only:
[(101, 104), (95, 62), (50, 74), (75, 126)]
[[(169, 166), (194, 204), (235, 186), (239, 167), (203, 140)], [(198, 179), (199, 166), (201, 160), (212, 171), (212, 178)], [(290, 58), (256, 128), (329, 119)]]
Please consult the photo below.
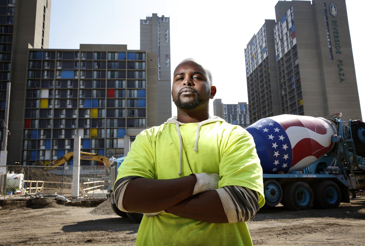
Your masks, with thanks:
[[(114, 215), (108, 201), (94, 204), (47, 201), (49, 204), (35, 205), (0, 200), (0, 246), (130, 246), (135, 243), (138, 224)], [(363, 246), (365, 197), (329, 210), (262, 208), (247, 224), (254, 245)]]

